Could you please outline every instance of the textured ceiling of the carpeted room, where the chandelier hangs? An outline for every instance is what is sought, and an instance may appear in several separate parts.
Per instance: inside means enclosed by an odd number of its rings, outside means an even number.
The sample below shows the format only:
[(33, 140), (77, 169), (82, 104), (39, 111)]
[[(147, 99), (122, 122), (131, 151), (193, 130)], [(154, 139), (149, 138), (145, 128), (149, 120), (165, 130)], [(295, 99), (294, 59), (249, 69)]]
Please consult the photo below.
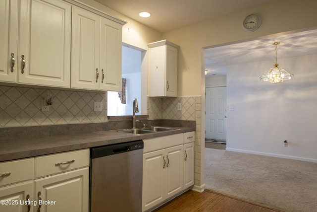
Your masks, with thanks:
[[(278, 59), (317, 54), (317, 30), (303, 31), (243, 43), (214, 47), (205, 50), (205, 69), (208, 75), (226, 75), (226, 66), (257, 61), (275, 63), (275, 46)], [(265, 70), (264, 70), (265, 71)]]

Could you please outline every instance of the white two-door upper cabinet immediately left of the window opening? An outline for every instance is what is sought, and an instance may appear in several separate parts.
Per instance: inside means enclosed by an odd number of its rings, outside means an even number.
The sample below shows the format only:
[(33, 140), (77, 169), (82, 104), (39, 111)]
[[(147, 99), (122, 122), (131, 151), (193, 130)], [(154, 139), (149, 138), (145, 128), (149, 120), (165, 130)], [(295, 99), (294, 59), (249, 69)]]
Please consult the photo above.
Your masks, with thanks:
[(73, 7), (71, 87), (121, 91), (122, 25)]

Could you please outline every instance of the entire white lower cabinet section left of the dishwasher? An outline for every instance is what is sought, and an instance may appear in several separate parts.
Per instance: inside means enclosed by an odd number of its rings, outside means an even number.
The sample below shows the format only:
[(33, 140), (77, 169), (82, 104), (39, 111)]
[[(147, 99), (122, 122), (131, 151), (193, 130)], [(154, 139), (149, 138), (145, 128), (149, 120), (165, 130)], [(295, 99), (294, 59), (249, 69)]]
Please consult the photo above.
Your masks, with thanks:
[(1, 200), (0, 212), (88, 212), (89, 149), (0, 163)]

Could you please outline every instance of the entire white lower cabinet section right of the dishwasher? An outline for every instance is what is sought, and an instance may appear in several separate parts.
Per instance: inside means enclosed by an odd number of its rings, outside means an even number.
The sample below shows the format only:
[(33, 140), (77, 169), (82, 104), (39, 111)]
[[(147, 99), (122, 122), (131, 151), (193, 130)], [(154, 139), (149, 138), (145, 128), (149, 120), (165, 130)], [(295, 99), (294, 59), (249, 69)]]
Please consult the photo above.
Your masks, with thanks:
[(194, 185), (194, 132), (185, 134), (144, 140), (143, 212)]

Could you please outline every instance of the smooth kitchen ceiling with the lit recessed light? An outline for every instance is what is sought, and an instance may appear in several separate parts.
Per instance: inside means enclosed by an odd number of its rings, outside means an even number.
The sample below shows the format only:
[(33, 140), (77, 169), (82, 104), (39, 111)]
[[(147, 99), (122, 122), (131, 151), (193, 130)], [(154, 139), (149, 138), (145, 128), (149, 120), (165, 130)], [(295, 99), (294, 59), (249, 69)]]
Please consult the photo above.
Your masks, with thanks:
[[(159, 32), (279, 0), (95, 0)], [(139, 13), (150, 12), (149, 18)]]

